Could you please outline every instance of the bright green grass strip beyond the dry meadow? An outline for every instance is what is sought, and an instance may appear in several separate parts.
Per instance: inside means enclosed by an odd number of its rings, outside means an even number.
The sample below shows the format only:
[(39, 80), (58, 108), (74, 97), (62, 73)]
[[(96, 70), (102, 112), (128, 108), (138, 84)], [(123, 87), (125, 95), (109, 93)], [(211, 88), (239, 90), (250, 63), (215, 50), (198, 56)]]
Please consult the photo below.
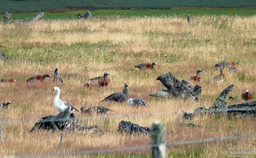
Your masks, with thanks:
[[(72, 19), (77, 18), (77, 13), (84, 14), (86, 10), (68, 11), (61, 13), (44, 12), (44, 16), (41, 19), (59, 19), (61, 17)], [(201, 16), (201, 15), (227, 15), (227, 16), (253, 16), (256, 15), (256, 9), (148, 9), (148, 10), (90, 10), (92, 16), (186, 16), (189, 13), (191, 16)], [(38, 12), (29, 13), (12, 13), (12, 19), (25, 19)], [(0, 19), (3, 19), (1, 14)]]

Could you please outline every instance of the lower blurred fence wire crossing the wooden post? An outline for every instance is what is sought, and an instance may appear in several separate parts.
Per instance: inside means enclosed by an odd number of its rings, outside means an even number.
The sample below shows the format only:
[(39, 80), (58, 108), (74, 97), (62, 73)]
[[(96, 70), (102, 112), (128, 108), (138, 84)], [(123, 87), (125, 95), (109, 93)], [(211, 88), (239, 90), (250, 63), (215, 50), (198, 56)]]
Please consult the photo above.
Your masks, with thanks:
[[(194, 144), (194, 143), (204, 143), (204, 142), (214, 142), (222, 140), (237, 140), (242, 138), (252, 138), (256, 137), (256, 134), (248, 134), (243, 136), (233, 136), (233, 137), (219, 137), (219, 138), (207, 138), (207, 139), (197, 139), (197, 140), (187, 140), (180, 142), (169, 142), (166, 143), (166, 146), (175, 146), (175, 145), (185, 145), (185, 144)], [(160, 144), (162, 145), (162, 144)], [(73, 152), (59, 152), (59, 153), (48, 153), (48, 154), (28, 154), (28, 155), (13, 155), (6, 156), (2, 158), (30, 158), (30, 157), (51, 157), (51, 156), (62, 156), (62, 155), (78, 155), (78, 154), (93, 154), (93, 153), (109, 153), (109, 152), (121, 152), (129, 150), (139, 150), (146, 149), (151, 147), (158, 147), (159, 145), (141, 145), (141, 146), (130, 146), (124, 148), (115, 148), (115, 149), (102, 149), (102, 150), (85, 150), (85, 151), (73, 151)]]

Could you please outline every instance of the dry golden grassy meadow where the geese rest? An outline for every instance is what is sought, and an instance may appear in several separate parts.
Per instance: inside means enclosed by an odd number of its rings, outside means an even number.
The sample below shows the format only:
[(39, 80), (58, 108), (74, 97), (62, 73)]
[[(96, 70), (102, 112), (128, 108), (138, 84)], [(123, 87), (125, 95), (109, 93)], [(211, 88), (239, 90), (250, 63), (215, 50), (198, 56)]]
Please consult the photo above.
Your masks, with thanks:
[[(3, 133), (0, 155), (46, 154), (83, 150), (113, 149), (148, 145), (150, 136), (129, 135), (117, 131), (121, 120), (150, 127), (156, 119), (166, 124), (167, 142), (216, 137), (232, 137), (256, 133), (255, 119), (239, 116), (233, 118), (196, 116), (185, 123), (202, 127), (184, 127), (176, 120), (182, 110), (191, 112), (200, 106), (212, 106), (220, 92), (234, 84), (227, 96), (239, 99), (226, 100), (228, 104), (241, 103), (242, 93), (249, 89), (255, 100), (256, 16), (203, 15), (162, 17), (93, 17), (78, 19), (41, 19), (36, 22), (0, 22), (0, 49), (12, 59), (0, 60), (0, 78), (11, 77), (16, 83), (0, 84), (0, 101), (10, 101), (8, 109), (0, 110)], [(47, 51), (47, 50), (51, 51)], [(215, 64), (223, 60), (240, 61), (238, 72), (224, 69), (225, 81), (214, 84), (214, 76), (220, 73)], [(134, 66), (143, 62), (157, 66), (153, 70), (140, 70)], [(54, 83), (55, 68), (63, 76), (63, 84)], [(201, 81), (190, 81), (190, 76), (201, 69)], [(90, 78), (110, 74), (111, 83), (90, 91), (83, 87)], [(156, 78), (171, 72), (179, 80), (202, 86), (199, 101), (180, 98), (154, 98), (148, 94), (166, 89)], [(50, 74), (43, 82), (26, 83), (34, 75)], [(129, 85), (129, 98), (144, 98), (145, 107), (132, 107), (124, 103), (100, 102), (106, 96), (121, 91)], [(57, 115), (53, 106), (58, 86), (60, 99), (80, 107), (103, 106), (113, 109), (107, 116), (174, 112), (171, 115), (116, 117), (98, 119), (97, 114), (84, 115), (79, 125), (99, 125), (98, 133), (66, 131), (62, 148), (57, 149), (61, 131), (29, 132), (43, 116)], [(91, 119), (86, 119), (90, 116)], [(104, 116), (104, 115), (103, 115)], [(13, 121), (34, 120), (30, 123)], [(168, 157), (227, 157), (221, 150), (253, 150), (255, 138), (176, 145), (167, 148)], [(150, 149), (117, 153), (66, 155), (55, 157), (151, 157)]]

